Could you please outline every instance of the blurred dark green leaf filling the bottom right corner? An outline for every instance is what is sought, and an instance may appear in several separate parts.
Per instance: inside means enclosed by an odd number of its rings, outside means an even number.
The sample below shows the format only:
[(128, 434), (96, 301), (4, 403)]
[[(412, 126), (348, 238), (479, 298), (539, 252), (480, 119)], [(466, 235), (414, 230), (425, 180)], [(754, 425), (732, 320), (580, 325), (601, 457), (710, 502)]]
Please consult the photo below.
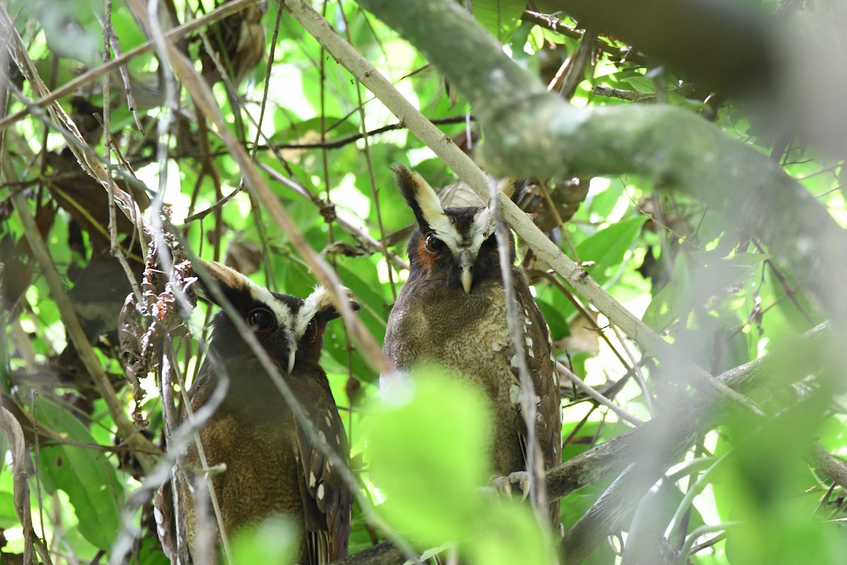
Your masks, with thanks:
[(727, 541), (731, 562), (834, 563), (847, 551), (843, 529), (811, 518), (820, 504), (811, 490), (818, 479), (802, 461), (827, 402), (810, 396), (766, 421), (730, 418), (735, 449), (713, 489), (723, 515), (740, 522)]

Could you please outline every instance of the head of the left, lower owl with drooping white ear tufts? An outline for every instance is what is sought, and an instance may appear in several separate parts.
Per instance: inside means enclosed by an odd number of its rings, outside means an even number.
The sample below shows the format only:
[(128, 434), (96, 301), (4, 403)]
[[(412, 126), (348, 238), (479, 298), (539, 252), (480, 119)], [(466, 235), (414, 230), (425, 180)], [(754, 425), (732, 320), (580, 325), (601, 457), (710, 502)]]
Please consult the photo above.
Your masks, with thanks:
[[(202, 261), (202, 267), (281, 370), (291, 374), (295, 368), (318, 363), (326, 324), (339, 317), (323, 286), (302, 299), (268, 291), (221, 263)], [(352, 292), (344, 291), (350, 306), (358, 310)], [(205, 285), (200, 285), (200, 294), (220, 306)], [(216, 313), (211, 325), (212, 346), (221, 358), (252, 355), (226, 312)]]

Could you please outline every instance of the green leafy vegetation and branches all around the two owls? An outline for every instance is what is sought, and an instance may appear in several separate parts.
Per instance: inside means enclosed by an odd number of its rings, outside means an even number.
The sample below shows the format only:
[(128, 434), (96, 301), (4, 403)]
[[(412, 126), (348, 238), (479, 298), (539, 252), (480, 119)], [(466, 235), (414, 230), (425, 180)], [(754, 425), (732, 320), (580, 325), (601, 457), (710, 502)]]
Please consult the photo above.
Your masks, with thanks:
[[(168, 49), (139, 49), (161, 32), (146, 2), (0, 7), (3, 558), (167, 562), (152, 500), (190, 440), (163, 448), (208, 335), (180, 263), (199, 256), (295, 296), (335, 273), (361, 303), (322, 357), (361, 494), (350, 554), (843, 562), (843, 7), (708, 3), (735, 24), (711, 27), (570, 0), (286, 0), (258, 22), (251, 0), (211, 4), (162, 3), (163, 22), (207, 14)], [(668, 21), (688, 26), (670, 46), (632, 29)], [(104, 28), (125, 75), (101, 72)], [(673, 54), (686, 31), (694, 63)], [(240, 82), (210, 78), (208, 49)], [(471, 198), (465, 153), (533, 178), (529, 215), (503, 216), (563, 366), (562, 541), (488, 488), (497, 422), (473, 391), (429, 367), (379, 404), (412, 225), (390, 165)], [(234, 536), (235, 562), (283, 559), (291, 532)]]

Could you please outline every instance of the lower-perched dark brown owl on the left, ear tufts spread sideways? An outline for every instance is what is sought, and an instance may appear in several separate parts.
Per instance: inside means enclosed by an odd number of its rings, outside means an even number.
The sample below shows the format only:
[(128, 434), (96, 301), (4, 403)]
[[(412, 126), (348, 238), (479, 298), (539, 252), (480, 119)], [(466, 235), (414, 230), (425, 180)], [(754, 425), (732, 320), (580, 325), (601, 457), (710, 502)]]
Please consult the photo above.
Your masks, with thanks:
[[(202, 263), (307, 414), (318, 441), (346, 461), (346, 435), (324, 369), (318, 364), (326, 324), (339, 314), (329, 292), (318, 287), (305, 300), (254, 284), (220, 263)], [(212, 292), (201, 289), (209, 300)], [(349, 291), (348, 291), (349, 293)], [(357, 303), (349, 298), (351, 306)], [(225, 396), (200, 429), (206, 464), (222, 472), (211, 474), (222, 523), (231, 539), (246, 525), (274, 514), (293, 517), (301, 530), (296, 562), (328, 563), (345, 557), (350, 534), (352, 495), (338, 470), (324, 457), (294, 418), (250, 346), (227, 313), (211, 322), (210, 351), (188, 393), (191, 410), (206, 407), (220, 387)], [(181, 419), (186, 420), (183, 411)], [(197, 445), (187, 453), (186, 468), (203, 468)], [(225, 466), (225, 467), (224, 467)], [(198, 520), (194, 501), (208, 496), (188, 481), (180, 482), (184, 507), (184, 539), (194, 559), (208, 555), (197, 523), (216, 523), (209, 514)], [(192, 493), (192, 490), (196, 490)], [(166, 506), (159, 502), (160, 507)], [(160, 519), (163, 509), (160, 508)], [(167, 535), (165, 536), (167, 537)], [(214, 540), (214, 533), (211, 537)], [(163, 546), (168, 549), (173, 540)]]

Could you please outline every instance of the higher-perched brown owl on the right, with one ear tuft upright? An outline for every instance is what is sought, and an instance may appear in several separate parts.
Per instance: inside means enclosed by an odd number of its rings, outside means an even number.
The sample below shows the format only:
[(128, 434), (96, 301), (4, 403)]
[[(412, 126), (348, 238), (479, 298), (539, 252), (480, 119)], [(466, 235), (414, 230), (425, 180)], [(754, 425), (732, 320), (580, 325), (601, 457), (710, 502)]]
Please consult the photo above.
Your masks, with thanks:
[[(507, 476), (526, 469), (527, 429), (520, 408), (518, 362), (507, 327), (506, 298), (493, 211), (442, 208), (417, 173), (396, 165), (397, 185), (417, 227), (409, 238), (409, 277), (388, 319), (385, 354), (397, 368), (440, 363), (485, 392), (494, 411), (491, 465)], [(560, 396), (550, 331), (523, 270), (509, 264), (523, 329), (524, 352), (537, 403), (536, 437), (545, 468), (561, 459)], [(558, 523), (558, 503), (551, 505)]]

